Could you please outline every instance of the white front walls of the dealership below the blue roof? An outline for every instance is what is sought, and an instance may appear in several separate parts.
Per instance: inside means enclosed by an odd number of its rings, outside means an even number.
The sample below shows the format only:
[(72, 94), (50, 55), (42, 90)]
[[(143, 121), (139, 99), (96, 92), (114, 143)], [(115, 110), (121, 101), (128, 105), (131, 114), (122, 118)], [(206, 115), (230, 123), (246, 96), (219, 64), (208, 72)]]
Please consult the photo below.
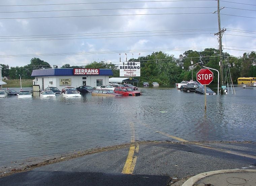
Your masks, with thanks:
[[(86, 79), (83, 79), (86, 77)], [(71, 79), (72, 87), (78, 87), (83, 85), (83, 81), (86, 81), (86, 85), (96, 87), (97, 79), (102, 79), (103, 85), (108, 85), (108, 76), (105, 75), (72, 75), (72, 76), (35, 76), (35, 84), (40, 85), (40, 90), (48, 86), (56, 86), (60, 90), (66, 85), (60, 85), (59, 79)], [(43, 87), (44, 84), (44, 87)]]

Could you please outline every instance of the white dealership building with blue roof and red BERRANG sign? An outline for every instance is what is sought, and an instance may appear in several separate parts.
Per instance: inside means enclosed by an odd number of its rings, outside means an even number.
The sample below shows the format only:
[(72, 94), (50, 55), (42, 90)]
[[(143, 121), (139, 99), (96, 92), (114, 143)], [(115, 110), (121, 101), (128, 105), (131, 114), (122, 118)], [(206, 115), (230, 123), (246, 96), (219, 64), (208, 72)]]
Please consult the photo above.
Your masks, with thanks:
[(47, 68), (33, 70), (31, 76), (35, 77), (33, 84), (39, 85), (41, 91), (48, 86), (55, 86), (61, 90), (65, 86), (76, 88), (82, 85), (108, 85), (108, 77), (111, 75), (111, 69)]

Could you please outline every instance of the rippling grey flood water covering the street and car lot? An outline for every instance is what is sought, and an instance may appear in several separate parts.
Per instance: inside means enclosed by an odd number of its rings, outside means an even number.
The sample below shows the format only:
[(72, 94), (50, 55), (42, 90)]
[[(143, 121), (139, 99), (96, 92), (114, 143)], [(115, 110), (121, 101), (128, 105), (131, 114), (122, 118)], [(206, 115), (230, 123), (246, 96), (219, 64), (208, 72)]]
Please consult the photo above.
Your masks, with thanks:
[[(29, 90), (31, 88), (28, 88)], [(173, 87), (139, 87), (139, 97), (0, 100), (0, 167), (30, 157), (135, 141), (255, 141), (256, 88), (204, 96)], [(231, 92), (230, 92), (231, 93)], [(165, 135), (167, 134), (167, 135)], [(169, 136), (168, 136), (169, 135)]]

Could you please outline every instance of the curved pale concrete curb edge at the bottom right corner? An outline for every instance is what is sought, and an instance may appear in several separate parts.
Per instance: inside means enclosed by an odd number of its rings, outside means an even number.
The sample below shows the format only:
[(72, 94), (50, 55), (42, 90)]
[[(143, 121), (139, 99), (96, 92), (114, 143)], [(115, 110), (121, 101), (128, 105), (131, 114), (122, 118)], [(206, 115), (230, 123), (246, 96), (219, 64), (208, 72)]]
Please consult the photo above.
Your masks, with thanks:
[(207, 177), (207, 176), (212, 176), (215, 174), (222, 174), (222, 173), (238, 173), (238, 172), (254, 172), (256, 173), (256, 170), (253, 169), (229, 169), (229, 170), (218, 170), (218, 171), (210, 171), (210, 172), (205, 172), (201, 173), (198, 175), (195, 175), (191, 178), (189, 178), (186, 182), (182, 184), (182, 186), (193, 186), (196, 182), (198, 182), (200, 179)]

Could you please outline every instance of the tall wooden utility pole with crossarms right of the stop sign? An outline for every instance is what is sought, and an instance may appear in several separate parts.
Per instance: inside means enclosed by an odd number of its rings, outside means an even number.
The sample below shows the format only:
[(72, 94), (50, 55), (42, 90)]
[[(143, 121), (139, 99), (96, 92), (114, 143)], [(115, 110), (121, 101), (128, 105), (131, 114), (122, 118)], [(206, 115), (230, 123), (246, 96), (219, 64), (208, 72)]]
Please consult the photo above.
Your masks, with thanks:
[[(224, 7), (222, 7), (221, 9), (223, 9)], [(221, 38), (222, 38), (222, 35), (223, 33), (226, 31), (226, 29), (222, 29), (221, 30), (221, 27), (220, 27), (220, 0), (218, 0), (218, 24), (219, 24), (219, 32), (214, 34), (214, 35), (218, 35), (219, 37), (219, 50), (220, 50), (220, 84), (221, 86), (224, 85), (223, 83), (223, 63), (222, 63), (222, 42), (221, 42)], [(215, 11), (216, 12), (216, 11)], [(214, 13), (215, 13), (214, 12)], [(224, 94), (224, 90), (221, 88), (220, 89), (220, 94)]]

